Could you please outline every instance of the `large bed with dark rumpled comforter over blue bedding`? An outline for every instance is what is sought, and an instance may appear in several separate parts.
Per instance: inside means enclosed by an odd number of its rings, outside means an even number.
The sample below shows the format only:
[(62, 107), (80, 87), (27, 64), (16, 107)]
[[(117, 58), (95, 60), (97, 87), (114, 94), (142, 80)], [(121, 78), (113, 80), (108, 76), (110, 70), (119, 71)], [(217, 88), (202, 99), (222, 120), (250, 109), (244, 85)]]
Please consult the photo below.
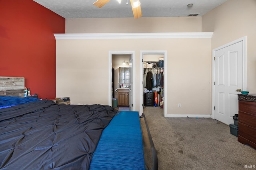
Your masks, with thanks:
[(137, 111), (0, 96), (0, 139), (1, 170), (148, 169)]

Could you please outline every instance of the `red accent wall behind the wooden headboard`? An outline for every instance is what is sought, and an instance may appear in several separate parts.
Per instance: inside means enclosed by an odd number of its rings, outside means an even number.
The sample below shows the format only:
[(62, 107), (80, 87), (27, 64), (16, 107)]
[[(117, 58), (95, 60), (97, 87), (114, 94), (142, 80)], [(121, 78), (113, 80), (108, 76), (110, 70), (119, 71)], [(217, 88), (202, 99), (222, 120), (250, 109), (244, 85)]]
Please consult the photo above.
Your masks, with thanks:
[(65, 18), (33, 0), (0, 0), (0, 76), (25, 77), (32, 95), (54, 99), (54, 33), (65, 33)]

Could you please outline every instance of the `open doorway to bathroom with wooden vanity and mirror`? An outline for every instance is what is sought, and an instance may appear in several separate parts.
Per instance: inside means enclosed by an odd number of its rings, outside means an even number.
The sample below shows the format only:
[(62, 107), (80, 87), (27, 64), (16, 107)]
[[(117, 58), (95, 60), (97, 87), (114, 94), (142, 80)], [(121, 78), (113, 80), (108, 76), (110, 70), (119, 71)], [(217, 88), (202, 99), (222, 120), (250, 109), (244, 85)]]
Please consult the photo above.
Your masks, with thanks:
[(109, 55), (111, 70), (109, 98), (110, 106), (118, 110), (133, 110), (133, 56), (134, 51), (114, 51)]

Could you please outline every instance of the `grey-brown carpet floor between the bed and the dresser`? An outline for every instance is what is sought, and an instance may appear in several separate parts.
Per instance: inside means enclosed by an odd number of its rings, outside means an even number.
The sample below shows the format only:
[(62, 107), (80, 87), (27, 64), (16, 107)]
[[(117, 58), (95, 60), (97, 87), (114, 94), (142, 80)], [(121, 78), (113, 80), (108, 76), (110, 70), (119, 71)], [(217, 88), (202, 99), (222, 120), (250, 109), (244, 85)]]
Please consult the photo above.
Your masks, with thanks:
[[(256, 150), (237, 141), (230, 127), (212, 118), (163, 117), (160, 107), (144, 114), (158, 153), (159, 170), (242, 170), (256, 166)], [(152, 167), (143, 119), (146, 165)]]

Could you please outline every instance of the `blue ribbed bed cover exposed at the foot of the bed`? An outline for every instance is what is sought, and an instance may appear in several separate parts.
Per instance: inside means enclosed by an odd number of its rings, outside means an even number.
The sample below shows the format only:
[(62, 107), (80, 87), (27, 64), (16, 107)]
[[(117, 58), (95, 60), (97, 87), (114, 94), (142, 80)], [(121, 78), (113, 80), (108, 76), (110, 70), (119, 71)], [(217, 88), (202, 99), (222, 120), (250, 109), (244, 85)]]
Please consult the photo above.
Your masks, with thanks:
[(112, 118), (102, 132), (89, 170), (145, 170), (138, 111), (121, 111)]

